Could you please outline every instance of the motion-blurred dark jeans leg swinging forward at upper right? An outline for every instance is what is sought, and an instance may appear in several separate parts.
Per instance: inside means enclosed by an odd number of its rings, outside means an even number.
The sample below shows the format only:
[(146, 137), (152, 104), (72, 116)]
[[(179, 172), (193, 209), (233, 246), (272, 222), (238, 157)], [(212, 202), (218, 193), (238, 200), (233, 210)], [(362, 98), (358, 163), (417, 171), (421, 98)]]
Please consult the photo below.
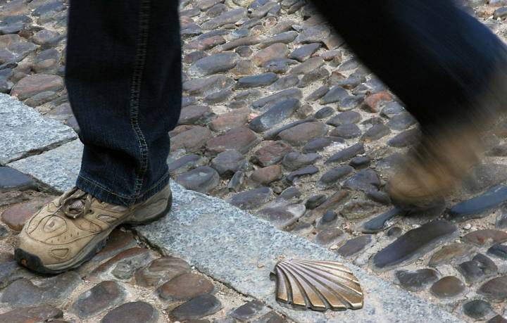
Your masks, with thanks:
[(451, 0), (313, 4), (423, 131), (451, 121), (473, 123), (477, 100), (507, 66), (501, 40)]

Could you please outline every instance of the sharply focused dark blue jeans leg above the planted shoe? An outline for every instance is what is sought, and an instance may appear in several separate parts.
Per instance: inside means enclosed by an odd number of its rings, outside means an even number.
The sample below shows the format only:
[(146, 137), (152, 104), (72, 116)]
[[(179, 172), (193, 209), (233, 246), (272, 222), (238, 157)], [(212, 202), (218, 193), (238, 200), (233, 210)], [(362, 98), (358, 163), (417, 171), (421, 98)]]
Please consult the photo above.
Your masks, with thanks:
[(84, 144), (77, 187), (132, 205), (168, 183), (181, 109), (177, 0), (73, 0), (65, 83)]

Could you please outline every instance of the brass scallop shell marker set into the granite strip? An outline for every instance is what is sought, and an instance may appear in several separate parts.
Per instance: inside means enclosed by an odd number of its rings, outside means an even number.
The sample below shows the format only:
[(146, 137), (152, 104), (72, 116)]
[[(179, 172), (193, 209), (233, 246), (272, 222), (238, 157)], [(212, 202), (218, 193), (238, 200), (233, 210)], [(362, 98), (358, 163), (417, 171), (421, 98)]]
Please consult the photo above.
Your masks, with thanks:
[(282, 260), (275, 275), (279, 302), (318, 311), (363, 308), (359, 281), (339, 262)]

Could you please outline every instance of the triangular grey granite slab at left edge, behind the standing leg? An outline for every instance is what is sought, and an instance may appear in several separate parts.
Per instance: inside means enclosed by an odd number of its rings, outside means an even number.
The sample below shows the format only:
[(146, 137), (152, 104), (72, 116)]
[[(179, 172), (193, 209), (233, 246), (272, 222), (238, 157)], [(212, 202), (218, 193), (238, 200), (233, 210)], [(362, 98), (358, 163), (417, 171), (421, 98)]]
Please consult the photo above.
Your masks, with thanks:
[[(0, 165), (76, 138), (72, 128), (0, 94)], [(22, 171), (23, 172), (23, 171)]]

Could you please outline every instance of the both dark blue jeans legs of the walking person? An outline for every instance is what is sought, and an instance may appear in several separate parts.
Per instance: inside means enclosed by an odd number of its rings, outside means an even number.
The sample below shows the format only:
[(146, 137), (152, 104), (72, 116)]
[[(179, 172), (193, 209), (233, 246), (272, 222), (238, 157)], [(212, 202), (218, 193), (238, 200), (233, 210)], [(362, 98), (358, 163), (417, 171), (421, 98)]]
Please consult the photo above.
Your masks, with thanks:
[[(132, 205), (168, 183), (181, 108), (177, 0), (73, 0), (66, 84), (84, 143), (77, 187)], [(313, 0), (423, 130), (468, 122), (503, 44), (451, 0)]]

